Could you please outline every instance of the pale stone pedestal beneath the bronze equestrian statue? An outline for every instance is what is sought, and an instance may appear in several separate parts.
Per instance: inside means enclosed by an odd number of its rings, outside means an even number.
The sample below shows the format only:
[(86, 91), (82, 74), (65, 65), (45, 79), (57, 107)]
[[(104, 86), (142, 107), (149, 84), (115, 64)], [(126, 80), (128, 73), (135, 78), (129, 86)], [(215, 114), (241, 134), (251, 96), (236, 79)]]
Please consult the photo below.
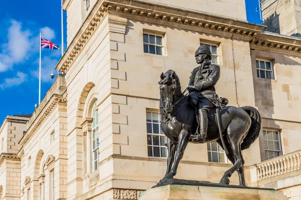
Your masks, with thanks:
[(233, 187), (165, 185), (141, 193), (139, 200), (287, 200), (282, 191)]

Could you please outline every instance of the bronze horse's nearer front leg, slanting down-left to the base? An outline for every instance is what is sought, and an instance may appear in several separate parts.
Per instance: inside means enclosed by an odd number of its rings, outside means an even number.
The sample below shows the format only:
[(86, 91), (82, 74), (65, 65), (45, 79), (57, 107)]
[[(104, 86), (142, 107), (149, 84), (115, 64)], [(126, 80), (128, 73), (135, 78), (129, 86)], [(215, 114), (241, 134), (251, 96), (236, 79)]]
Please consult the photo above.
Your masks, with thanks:
[(179, 143), (178, 143), (178, 147), (177, 147), (177, 152), (176, 152), (176, 156), (175, 156), (174, 165), (173, 165), (173, 167), (171, 169), (171, 172), (170, 172), (170, 174), (172, 176), (177, 174), (178, 165), (179, 165), (180, 160), (183, 157), (185, 148), (186, 148), (186, 146), (188, 144), (188, 141), (189, 141), (189, 137), (190, 137), (190, 133), (187, 130), (182, 129), (182, 131), (179, 135)]

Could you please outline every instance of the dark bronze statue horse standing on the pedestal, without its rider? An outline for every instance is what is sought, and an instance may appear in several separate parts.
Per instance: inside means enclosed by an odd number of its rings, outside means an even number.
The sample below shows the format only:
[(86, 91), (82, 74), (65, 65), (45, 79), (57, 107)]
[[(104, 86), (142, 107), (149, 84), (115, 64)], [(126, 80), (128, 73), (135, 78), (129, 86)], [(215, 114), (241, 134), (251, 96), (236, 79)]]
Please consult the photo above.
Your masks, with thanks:
[[(161, 74), (160, 84), (160, 112), (161, 128), (167, 136), (168, 160), (167, 171), (163, 179), (173, 178), (183, 157), (185, 148), (190, 141), (190, 135), (197, 129), (195, 108), (190, 103), (190, 97), (182, 93), (179, 77), (173, 70)], [(208, 124), (206, 142), (216, 141), (223, 147), (218, 129), (216, 110), (209, 113), (212, 119)], [(211, 115), (211, 117), (210, 117)], [(251, 106), (227, 106), (220, 112), (221, 131), (225, 146), (229, 153), (228, 159), (233, 166), (228, 169), (220, 180), (222, 184), (229, 184), (229, 177), (238, 172), (241, 186), (246, 186), (244, 178), (244, 159), (241, 151), (250, 147), (260, 132), (261, 117), (257, 109)], [(203, 143), (203, 142), (199, 142)]]

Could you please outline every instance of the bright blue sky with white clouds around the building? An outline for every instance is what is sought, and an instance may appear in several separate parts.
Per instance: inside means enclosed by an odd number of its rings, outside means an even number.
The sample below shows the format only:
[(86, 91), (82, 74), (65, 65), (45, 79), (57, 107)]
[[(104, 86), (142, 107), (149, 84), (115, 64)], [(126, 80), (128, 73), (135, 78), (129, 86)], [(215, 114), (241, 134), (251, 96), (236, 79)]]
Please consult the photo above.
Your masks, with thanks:
[[(255, 11), (258, 1), (245, 1), (248, 21), (261, 24), (259, 12)], [(12, 6), (13, 3), (16, 6)], [(60, 0), (39, 0), (39, 3), (37, 0), (1, 2), (0, 123), (7, 115), (34, 111), (34, 105), (39, 100), (39, 33), (42, 32), (43, 37), (62, 46), (60, 7)], [(66, 13), (64, 17), (66, 23)], [(66, 30), (64, 34), (66, 37)], [(41, 99), (54, 81), (50, 73), (60, 57), (61, 50), (42, 49)]]

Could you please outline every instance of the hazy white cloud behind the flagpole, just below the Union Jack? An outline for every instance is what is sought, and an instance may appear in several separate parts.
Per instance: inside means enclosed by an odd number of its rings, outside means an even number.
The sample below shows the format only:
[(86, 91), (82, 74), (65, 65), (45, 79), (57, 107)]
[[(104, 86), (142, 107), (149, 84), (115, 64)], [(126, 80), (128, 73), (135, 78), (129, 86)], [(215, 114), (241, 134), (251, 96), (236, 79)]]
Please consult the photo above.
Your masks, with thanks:
[[(39, 60), (36, 61), (39, 63)], [(42, 82), (53, 82), (51, 79), (50, 74), (52, 69), (55, 68), (56, 64), (58, 63), (57, 59), (53, 59), (50, 56), (45, 56), (41, 60), (41, 81)], [(36, 70), (31, 71), (32, 75), (36, 78), (39, 78), (39, 64)], [(54, 73), (56, 75), (56, 72)]]

